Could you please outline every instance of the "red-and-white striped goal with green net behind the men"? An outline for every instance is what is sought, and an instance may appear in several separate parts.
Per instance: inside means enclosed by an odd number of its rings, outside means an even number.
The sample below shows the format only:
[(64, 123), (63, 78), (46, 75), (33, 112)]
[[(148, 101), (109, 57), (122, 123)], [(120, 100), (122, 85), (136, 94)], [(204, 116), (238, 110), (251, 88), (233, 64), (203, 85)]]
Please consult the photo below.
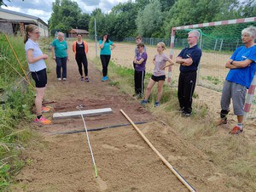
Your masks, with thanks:
[[(256, 25), (256, 17), (222, 20), (195, 25), (172, 27), (171, 58), (177, 57), (178, 51), (188, 46), (188, 32), (196, 29), (200, 31), (198, 42), (202, 49), (201, 63), (199, 65), (197, 84), (206, 88), (221, 91), (228, 69), (224, 65), (231, 54), (242, 45), (241, 31), (249, 25)], [(178, 50), (178, 51), (177, 51)], [(171, 82), (172, 68), (168, 71), (168, 82)], [(177, 74), (176, 74), (177, 76)], [(177, 79), (172, 76), (173, 79)], [(248, 117), (256, 117), (256, 98), (253, 97), (251, 111)]]

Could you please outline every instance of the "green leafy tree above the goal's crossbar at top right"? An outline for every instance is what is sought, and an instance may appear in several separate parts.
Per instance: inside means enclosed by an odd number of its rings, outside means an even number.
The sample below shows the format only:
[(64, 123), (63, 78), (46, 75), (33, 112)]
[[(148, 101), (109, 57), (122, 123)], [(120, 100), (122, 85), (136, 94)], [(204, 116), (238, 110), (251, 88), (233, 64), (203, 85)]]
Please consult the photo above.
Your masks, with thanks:
[(166, 37), (174, 26), (241, 18), (240, 8), (239, 0), (178, 0), (165, 20)]

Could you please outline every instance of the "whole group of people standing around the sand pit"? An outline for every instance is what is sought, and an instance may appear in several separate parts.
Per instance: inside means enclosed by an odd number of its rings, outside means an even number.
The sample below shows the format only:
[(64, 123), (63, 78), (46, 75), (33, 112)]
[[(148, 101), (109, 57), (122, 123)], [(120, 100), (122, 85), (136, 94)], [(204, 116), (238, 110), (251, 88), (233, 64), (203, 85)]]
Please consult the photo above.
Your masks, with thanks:
[[(37, 25), (26, 26), (26, 36), (24, 39), (26, 49), (26, 59), (29, 65), (29, 70), (32, 72), (32, 78), (36, 83), (37, 96), (35, 99), (37, 117), (35, 121), (43, 124), (49, 124), (50, 121), (44, 116), (42, 112), (47, 111), (42, 107), (44, 98), (44, 91), (47, 84), (46, 65), (44, 59), (48, 59), (47, 54), (43, 54), (38, 47), (38, 38), (40, 31)], [(80, 80), (89, 82), (88, 77), (88, 61), (86, 54), (88, 53), (88, 45), (82, 40), (82, 35), (77, 35), (78, 40), (73, 42), (73, 52), (75, 59), (79, 66)], [(197, 41), (200, 38), (200, 32), (197, 30), (189, 31), (188, 44), (189, 47), (183, 48), (180, 54), (177, 55), (176, 63), (179, 67), (177, 98), (179, 102), (180, 111), (183, 116), (190, 116), (192, 113), (192, 96), (195, 91), (197, 69), (201, 59), (201, 48), (197, 46)], [(253, 76), (256, 72), (256, 27), (249, 26), (241, 31), (241, 40), (244, 46), (236, 48), (236, 51), (227, 61), (225, 67), (230, 71), (224, 82), (224, 88), (221, 97), (221, 112), (220, 121), (218, 125), (227, 123), (227, 115), (230, 111), (230, 99), (233, 101), (234, 114), (237, 116), (237, 125), (230, 133), (242, 133), (243, 131), (243, 105), (245, 104), (245, 97), (247, 88), (249, 88), (253, 81)], [(148, 99), (154, 84), (158, 82), (157, 98), (154, 106), (160, 106), (160, 99), (163, 92), (164, 82), (166, 80), (165, 69), (168, 66), (174, 65), (174, 61), (164, 53), (166, 45), (164, 42), (157, 44), (157, 54), (154, 55), (153, 64), (154, 71), (151, 76), (148, 87), (144, 93), (144, 78), (146, 71), (146, 62), (148, 54), (146, 47), (142, 42), (142, 37), (138, 36), (136, 39), (137, 46), (135, 48), (135, 56), (133, 59), (134, 67), (134, 87), (135, 94), (139, 99), (143, 99), (141, 104), (148, 104)], [(64, 41), (64, 34), (59, 32), (58, 38), (52, 42), (53, 59), (56, 61), (57, 80), (67, 80), (67, 61), (68, 51), (67, 42)], [(111, 58), (111, 50), (116, 45), (108, 39), (108, 34), (104, 34), (102, 40), (99, 41), (101, 48), (100, 58), (102, 61), (102, 82), (108, 80), (108, 64)], [(82, 70), (84, 65), (84, 75)], [(62, 74), (61, 74), (62, 69)]]

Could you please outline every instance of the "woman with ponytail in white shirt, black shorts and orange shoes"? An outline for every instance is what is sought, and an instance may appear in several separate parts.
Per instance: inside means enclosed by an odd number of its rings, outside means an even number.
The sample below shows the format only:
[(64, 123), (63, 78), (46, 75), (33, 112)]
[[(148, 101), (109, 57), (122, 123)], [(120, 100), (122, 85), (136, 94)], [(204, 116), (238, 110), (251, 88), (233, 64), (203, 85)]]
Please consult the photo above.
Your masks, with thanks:
[(44, 99), (45, 87), (47, 84), (46, 65), (44, 59), (48, 59), (47, 54), (43, 54), (38, 46), (40, 31), (37, 25), (27, 25), (26, 34), (24, 37), (26, 60), (31, 71), (32, 78), (36, 82), (37, 96), (35, 99), (36, 105), (36, 122), (41, 124), (49, 124), (51, 121), (42, 116), (42, 112), (47, 112), (47, 108), (42, 107)]

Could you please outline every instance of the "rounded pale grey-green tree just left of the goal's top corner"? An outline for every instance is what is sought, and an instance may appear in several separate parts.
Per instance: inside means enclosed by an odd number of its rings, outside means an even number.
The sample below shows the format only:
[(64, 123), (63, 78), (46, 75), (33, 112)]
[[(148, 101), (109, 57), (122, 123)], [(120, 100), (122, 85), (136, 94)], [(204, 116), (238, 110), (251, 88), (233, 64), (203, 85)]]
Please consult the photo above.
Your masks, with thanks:
[(137, 31), (143, 37), (157, 37), (163, 24), (160, 1), (149, 3), (143, 11), (137, 15)]

